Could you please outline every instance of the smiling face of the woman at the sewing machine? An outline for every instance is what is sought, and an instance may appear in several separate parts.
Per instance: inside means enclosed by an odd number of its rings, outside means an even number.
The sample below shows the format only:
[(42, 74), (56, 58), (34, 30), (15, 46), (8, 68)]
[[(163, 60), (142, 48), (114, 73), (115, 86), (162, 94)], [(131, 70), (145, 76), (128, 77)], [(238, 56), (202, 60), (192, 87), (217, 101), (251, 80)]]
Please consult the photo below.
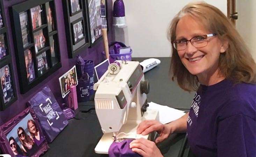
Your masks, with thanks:
[[(180, 19), (176, 27), (176, 40), (191, 38), (198, 35), (206, 35), (217, 32), (209, 32), (197, 19), (185, 15)], [(189, 72), (198, 77), (207, 77), (218, 69), (219, 55), (226, 49), (222, 46), (217, 36), (208, 37), (208, 44), (205, 47), (196, 48), (190, 42), (185, 50), (178, 51), (178, 55)]]

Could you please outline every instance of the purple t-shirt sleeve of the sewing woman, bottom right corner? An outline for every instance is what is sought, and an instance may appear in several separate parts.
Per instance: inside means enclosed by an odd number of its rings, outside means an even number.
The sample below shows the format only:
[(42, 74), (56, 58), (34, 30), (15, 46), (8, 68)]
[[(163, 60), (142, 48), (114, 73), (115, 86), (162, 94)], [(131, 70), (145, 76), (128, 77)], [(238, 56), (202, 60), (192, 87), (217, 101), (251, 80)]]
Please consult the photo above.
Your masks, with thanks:
[(255, 157), (256, 121), (242, 113), (218, 123), (218, 157)]

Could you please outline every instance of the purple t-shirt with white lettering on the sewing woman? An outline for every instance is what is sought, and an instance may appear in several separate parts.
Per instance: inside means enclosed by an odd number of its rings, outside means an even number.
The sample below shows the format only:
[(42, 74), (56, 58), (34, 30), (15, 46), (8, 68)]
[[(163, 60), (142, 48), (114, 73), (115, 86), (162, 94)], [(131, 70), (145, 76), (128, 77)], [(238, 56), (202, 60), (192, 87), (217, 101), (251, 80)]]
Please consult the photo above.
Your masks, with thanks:
[(187, 120), (191, 151), (197, 157), (255, 157), (255, 117), (255, 84), (200, 85)]

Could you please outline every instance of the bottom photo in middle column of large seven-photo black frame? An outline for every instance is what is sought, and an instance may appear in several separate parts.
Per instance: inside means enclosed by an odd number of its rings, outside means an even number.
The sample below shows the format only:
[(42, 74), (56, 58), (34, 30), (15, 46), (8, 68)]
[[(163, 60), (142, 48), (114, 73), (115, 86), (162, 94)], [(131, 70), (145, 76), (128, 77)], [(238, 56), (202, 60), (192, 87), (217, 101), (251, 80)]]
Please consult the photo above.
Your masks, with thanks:
[(36, 61), (37, 61), (37, 73), (38, 73), (38, 76), (41, 76), (47, 71), (47, 69), (49, 69), (47, 64), (47, 59), (46, 59), (46, 52), (39, 54), (36, 57)]

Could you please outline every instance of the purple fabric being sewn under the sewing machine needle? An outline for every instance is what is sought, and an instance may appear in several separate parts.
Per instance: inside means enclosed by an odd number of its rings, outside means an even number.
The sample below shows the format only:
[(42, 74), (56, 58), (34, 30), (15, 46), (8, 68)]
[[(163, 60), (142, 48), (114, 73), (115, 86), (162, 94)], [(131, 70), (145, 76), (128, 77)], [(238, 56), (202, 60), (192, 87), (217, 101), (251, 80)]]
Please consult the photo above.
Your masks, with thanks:
[(130, 143), (133, 140), (127, 139), (122, 142), (114, 141), (109, 147), (109, 157), (141, 157), (130, 148)]

